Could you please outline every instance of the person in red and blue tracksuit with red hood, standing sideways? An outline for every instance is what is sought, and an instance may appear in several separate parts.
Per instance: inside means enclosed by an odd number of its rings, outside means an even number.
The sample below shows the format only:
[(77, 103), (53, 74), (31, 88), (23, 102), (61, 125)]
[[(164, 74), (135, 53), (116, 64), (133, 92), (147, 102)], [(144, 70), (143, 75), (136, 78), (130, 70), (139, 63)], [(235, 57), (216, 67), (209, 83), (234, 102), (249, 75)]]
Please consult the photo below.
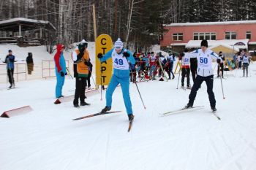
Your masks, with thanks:
[(66, 61), (63, 55), (63, 50), (64, 50), (64, 45), (61, 45), (61, 44), (57, 45), (57, 53), (54, 55), (55, 72), (57, 77), (57, 84), (56, 84), (56, 90), (55, 90), (56, 98), (63, 97), (62, 87), (64, 85), (65, 75), (67, 75)]

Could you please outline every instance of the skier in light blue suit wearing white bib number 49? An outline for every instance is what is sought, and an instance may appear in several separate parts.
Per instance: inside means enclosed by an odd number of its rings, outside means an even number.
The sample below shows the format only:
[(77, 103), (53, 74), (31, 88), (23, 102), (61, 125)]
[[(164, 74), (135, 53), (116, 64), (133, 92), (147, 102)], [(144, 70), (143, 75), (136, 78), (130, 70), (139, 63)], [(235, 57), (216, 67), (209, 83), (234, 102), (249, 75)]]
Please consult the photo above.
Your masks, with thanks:
[(112, 57), (114, 67), (113, 75), (106, 92), (106, 107), (101, 112), (105, 113), (111, 109), (113, 92), (120, 83), (129, 121), (133, 120), (132, 103), (129, 97), (129, 63), (135, 64), (135, 58), (129, 50), (124, 49), (123, 42), (119, 38), (115, 42), (115, 47), (112, 50), (108, 51), (105, 55), (99, 53), (97, 57), (101, 62), (107, 61), (108, 58)]

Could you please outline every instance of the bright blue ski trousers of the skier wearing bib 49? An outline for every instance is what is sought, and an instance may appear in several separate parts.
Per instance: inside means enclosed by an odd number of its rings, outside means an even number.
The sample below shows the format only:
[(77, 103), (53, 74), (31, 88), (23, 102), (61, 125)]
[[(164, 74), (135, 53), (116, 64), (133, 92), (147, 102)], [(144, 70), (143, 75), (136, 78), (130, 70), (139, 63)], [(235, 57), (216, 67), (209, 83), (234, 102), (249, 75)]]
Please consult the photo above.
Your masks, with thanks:
[(108, 90), (106, 93), (106, 102), (107, 107), (111, 107), (112, 105), (112, 95), (114, 90), (116, 89), (116, 86), (118, 84), (121, 84), (121, 90), (123, 93), (124, 98), (124, 104), (127, 109), (127, 115), (132, 114), (132, 103), (131, 98), (129, 97), (129, 77), (117, 77), (115, 74), (113, 74), (110, 83), (108, 85)]

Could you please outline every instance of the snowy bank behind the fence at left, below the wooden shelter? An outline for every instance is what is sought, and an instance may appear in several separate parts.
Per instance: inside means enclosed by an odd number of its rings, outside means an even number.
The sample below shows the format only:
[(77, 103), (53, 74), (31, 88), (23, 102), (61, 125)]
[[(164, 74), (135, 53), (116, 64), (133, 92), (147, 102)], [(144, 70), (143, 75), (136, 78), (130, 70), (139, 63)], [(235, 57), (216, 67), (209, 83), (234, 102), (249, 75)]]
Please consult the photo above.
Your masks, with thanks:
[[(76, 45), (76, 43), (74, 43)], [(95, 62), (95, 43), (89, 42), (89, 53), (91, 57), (91, 61)], [(38, 80), (42, 79), (42, 67), (45, 68), (44, 77), (49, 75), (48, 68), (49, 63), (42, 61), (50, 61), (50, 68), (54, 68), (53, 57), (56, 51), (53, 54), (49, 54), (46, 51), (45, 46), (37, 46), (37, 47), (18, 47), (18, 45), (10, 45), (10, 44), (1, 44), (0, 45), (0, 83), (7, 82), (6, 75), (6, 64), (2, 63), (4, 61), (6, 55), (8, 54), (8, 50), (12, 50), (12, 54), (15, 55), (16, 63), (26, 63), (26, 57), (28, 53), (33, 54), (34, 59), (34, 71), (31, 75), (27, 74), (15, 74), (15, 80), (24, 81), (24, 80)], [(69, 70), (72, 70), (72, 59), (71, 59), (71, 52), (72, 50), (64, 51), (64, 58), (69, 61)], [(26, 65), (19, 65), (15, 67), (15, 72), (26, 72)], [(50, 76), (55, 75), (55, 70), (50, 70)]]

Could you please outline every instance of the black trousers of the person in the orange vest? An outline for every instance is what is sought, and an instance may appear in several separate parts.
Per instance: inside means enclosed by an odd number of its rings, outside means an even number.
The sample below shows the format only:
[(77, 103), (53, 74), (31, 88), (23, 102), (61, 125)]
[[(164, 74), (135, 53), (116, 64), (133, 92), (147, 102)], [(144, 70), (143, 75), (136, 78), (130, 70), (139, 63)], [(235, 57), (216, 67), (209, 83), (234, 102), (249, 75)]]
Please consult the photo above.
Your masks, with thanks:
[(75, 99), (73, 104), (78, 104), (80, 98), (80, 103), (84, 102), (86, 98), (86, 79), (87, 77), (75, 77)]

